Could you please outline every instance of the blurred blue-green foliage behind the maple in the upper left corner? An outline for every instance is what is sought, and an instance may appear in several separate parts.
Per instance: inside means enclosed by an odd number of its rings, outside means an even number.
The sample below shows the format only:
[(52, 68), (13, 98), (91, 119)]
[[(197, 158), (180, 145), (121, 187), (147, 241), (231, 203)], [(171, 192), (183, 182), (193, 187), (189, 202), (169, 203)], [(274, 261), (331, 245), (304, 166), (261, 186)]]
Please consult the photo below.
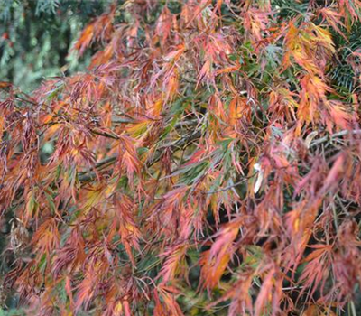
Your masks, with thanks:
[[(44, 78), (84, 70), (77, 60), (79, 32), (111, 0), (0, 0), (0, 81), (31, 92)], [(70, 52), (70, 53), (69, 53)]]

